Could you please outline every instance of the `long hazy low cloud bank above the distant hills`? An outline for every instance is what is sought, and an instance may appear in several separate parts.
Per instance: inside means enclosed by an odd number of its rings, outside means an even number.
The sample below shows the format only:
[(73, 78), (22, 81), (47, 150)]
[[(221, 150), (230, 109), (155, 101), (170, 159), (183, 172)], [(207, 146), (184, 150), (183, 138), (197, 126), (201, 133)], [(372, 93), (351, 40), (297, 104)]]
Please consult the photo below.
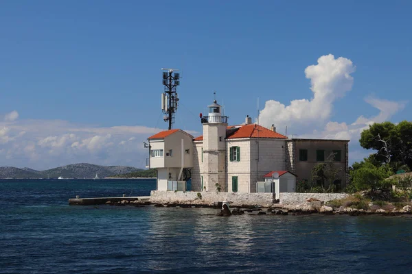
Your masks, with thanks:
[(49, 169), (90, 162), (143, 168), (148, 151), (142, 141), (161, 130), (139, 125), (94, 127), (60, 120), (0, 120), (0, 166)]

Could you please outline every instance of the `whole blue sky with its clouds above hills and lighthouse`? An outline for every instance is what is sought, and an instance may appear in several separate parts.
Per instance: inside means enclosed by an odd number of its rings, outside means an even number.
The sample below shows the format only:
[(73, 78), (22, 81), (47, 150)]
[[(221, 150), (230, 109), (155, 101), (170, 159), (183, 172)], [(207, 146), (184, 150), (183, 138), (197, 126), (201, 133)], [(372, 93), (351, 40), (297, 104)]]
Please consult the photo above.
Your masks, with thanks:
[[(174, 128), (201, 135), (216, 91), (288, 137), (350, 140), (412, 115), (411, 1), (0, 1), (0, 166), (144, 168), (167, 129), (161, 68), (179, 69)], [(258, 119), (259, 114), (259, 119)]]

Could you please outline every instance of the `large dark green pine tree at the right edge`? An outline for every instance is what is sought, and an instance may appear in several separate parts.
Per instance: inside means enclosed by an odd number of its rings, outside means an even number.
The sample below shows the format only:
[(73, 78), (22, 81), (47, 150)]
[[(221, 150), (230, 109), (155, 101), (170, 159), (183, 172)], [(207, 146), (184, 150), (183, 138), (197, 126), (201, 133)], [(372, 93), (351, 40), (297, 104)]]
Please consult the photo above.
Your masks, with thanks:
[(376, 150), (374, 158), (390, 164), (393, 171), (404, 165), (412, 169), (412, 122), (374, 123), (361, 133), (359, 142), (365, 149)]

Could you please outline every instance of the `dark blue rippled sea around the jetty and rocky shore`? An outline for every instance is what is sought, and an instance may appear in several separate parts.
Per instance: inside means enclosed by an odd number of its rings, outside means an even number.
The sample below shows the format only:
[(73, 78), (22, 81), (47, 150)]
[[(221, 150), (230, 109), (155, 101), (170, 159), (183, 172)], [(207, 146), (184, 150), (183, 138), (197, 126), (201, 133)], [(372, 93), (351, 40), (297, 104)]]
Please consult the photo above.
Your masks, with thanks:
[(412, 218), (69, 206), (154, 179), (0, 180), (0, 273), (411, 273)]

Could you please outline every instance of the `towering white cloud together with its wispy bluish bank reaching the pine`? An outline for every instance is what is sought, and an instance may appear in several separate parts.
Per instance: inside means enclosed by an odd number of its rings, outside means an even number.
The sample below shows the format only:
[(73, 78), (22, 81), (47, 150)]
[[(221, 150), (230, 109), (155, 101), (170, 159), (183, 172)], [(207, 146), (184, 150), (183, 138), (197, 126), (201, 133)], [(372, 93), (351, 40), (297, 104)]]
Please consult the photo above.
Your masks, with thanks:
[(288, 132), (293, 132), (295, 138), (351, 140), (350, 160), (362, 160), (368, 152), (358, 144), (361, 132), (373, 123), (388, 121), (393, 114), (405, 108), (407, 102), (369, 96), (365, 102), (379, 111), (376, 116), (361, 115), (353, 123), (331, 121), (334, 102), (352, 90), (352, 73), (355, 71), (356, 66), (347, 58), (334, 58), (332, 54), (321, 56), (317, 64), (305, 69), (312, 97), (290, 101), (289, 105), (275, 100), (266, 101), (260, 112), (260, 122), (266, 127), (274, 124), (284, 128), (287, 125)]

